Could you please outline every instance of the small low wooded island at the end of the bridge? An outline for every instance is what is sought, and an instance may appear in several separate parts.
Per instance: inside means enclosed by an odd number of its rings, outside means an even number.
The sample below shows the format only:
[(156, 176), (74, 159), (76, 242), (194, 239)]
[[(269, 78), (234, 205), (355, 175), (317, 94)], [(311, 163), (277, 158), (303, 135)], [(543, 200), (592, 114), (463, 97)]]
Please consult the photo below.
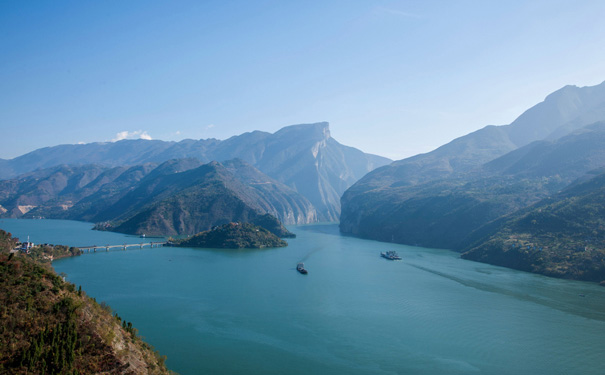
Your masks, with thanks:
[(284, 247), (288, 243), (265, 228), (249, 223), (229, 223), (184, 240), (174, 246), (220, 249)]

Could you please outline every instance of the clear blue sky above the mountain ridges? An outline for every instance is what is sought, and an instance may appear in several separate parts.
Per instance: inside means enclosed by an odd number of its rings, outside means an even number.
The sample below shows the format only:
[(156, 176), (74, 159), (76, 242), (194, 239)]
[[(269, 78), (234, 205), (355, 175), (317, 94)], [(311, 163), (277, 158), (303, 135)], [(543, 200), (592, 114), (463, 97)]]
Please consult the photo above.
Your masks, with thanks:
[(0, 158), (328, 121), (391, 159), (605, 81), (605, 1), (0, 0)]

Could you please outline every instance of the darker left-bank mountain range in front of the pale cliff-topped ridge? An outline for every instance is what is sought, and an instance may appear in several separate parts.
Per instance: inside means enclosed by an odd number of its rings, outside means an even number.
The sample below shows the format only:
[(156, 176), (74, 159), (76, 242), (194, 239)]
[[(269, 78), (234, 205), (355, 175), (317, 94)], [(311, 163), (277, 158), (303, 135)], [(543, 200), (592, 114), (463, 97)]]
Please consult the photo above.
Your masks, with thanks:
[(0, 181), (3, 217), (112, 222), (137, 234), (194, 234), (247, 221), (277, 235), (286, 224), (317, 221), (313, 205), (241, 160), (202, 165), (197, 159), (134, 167), (59, 166)]

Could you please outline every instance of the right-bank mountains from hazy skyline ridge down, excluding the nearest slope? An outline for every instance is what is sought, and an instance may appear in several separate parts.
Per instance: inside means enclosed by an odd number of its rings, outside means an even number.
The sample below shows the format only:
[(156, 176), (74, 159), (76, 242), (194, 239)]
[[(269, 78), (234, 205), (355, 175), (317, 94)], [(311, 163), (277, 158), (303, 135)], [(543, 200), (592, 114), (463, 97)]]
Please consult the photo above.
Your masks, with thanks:
[[(566, 87), (509, 126), (487, 127), (370, 172), (342, 197), (341, 231), (466, 249), (495, 220), (605, 166), (604, 89)], [(601, 115), (601, 122), (584, 123)], [(536, 137), (544, 139), (523, 141)]]

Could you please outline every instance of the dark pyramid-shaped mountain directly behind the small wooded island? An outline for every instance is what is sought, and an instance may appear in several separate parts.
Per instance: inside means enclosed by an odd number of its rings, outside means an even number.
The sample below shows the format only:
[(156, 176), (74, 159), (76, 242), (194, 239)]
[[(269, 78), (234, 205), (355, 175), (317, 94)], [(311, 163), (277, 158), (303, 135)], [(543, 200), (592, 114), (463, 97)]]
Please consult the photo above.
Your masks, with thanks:
[[(253, 167), (241, 161), (233, 165), (255, 175), (260, 173), (251, 172)], [(294, 191), (268, 177), (263, 183), (246, 185), (239, 175), (211, 162), (179, 173), (144, 178), (114, 205), (98, 213), (94, 221), (111, 221), (112, 230), (122, 233), (192, 235), (229, 222), (257, 223), (268, 211), (277, 212), (282, 219), (313, 219), (312, 205)], [(292, 205), (284, 204), (288, 201)], [(287, 233), (280, 224), (273, 226)]]

